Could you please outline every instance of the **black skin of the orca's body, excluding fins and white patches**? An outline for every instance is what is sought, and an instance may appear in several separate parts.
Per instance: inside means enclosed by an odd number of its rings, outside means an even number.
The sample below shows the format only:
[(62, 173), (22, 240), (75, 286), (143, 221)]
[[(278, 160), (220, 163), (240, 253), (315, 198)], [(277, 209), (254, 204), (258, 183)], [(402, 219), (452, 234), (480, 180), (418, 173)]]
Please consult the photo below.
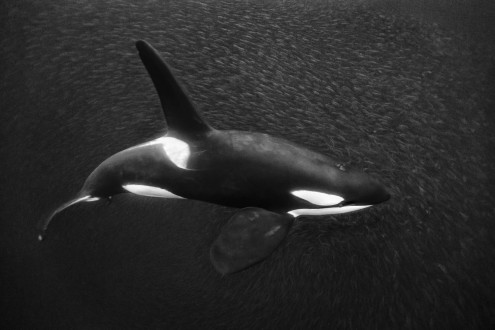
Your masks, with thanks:
[(315, 208), (291, 195), (293, 190), (339, 195), (342, 205), (372, 205), (390, 198), (369, 176), (345, 172), (326, 156), (266, 134), (211, 130), (204, 139), (188, 142), (188, 169), (164, 157), (161, 145), (131, 148), (96, 168), (80, 196), (108, 198), (124, 192), (122, 185), (134, 183), (187, 199), (275, 212)]

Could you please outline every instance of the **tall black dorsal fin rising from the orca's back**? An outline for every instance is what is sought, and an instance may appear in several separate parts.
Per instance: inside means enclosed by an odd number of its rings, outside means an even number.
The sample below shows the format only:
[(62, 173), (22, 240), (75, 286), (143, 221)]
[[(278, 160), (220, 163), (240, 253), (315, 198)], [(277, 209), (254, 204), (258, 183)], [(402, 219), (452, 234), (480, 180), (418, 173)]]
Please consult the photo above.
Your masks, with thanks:
[(211, 130), (158, 51), (144, 40), (137, 41), (136, 48), (160, 97), (169, 132), (196, 138)]

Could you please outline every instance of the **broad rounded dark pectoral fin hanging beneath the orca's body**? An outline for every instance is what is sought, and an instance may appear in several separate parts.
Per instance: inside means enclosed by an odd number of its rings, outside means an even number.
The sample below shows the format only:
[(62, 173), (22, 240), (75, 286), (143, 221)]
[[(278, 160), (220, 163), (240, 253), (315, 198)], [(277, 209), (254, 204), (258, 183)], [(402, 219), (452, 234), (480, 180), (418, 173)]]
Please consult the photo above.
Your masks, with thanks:
[(234, 214), (210, 249), (211, 262), (221, 274), (247, 268), (268, 257), (283, 241), (293, 217), (248, 207)]

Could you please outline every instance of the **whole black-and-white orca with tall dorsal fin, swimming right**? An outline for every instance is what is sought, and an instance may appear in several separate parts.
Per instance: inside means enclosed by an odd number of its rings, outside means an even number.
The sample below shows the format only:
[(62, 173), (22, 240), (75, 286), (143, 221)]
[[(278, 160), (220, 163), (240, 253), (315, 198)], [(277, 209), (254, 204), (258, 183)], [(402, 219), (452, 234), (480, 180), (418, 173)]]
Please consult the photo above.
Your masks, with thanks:
[(137, 41), (167, 122), (167, 134), (103, 161), (77, 196), (40, 222), (79, 202), (121, 193), (199, 200), (240, 208), (210, 249), (221, 274), (267, 258), (295, 218), (352, 212), (390, 194), (367, 174), (346, 171), (327, 156), (268, 134), (217, 130), (200, 115), (156, 49)]

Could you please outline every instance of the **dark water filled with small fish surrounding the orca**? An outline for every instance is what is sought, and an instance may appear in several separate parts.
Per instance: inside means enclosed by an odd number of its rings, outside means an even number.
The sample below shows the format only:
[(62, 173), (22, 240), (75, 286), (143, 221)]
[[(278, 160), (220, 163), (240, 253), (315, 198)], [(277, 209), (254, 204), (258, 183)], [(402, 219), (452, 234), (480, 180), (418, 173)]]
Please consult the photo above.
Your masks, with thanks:
[[(7, 328), (490, 328), (490, 3), (2, 3), (1, 323)], [(436, 23), (436, 24), (435, 24)], [(393, 199), (306, 218), (265, 262), (208, 258), (234, 210), (122, 196), (35, 225), (103, 159), (165, 131), (134, 41), (211, 124), (298, 141)]]

